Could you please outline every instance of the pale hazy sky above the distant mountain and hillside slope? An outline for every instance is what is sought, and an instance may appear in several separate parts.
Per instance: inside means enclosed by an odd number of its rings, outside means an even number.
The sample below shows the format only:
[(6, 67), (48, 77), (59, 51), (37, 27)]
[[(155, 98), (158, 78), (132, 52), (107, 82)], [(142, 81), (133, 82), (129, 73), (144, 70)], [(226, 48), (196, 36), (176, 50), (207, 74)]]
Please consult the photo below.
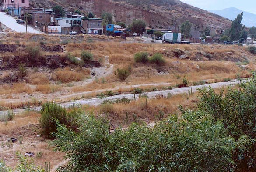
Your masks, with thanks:
[(235, 7), (239, 10), (256, 13), (256, 0), (180, 0), (204, 10), (223, 10)]

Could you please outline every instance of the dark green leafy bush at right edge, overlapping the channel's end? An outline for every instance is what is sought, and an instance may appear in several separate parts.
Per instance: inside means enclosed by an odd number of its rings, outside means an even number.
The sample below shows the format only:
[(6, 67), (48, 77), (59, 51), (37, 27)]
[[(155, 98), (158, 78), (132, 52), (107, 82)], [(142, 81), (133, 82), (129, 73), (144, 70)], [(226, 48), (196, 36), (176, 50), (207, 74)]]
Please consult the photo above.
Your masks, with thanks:
[[(213, 88), (199, 92), (199, 110), (211, 115), (214, 121), (223, 121), (225, 133), (235, 140), (242, 137), (256, 139), (256, 78), (242, 81), (239, 87), (215, 92)], [(254, 141), (243, 144), (233, 151), (236, 172), (256, 170), (256, 144)]]

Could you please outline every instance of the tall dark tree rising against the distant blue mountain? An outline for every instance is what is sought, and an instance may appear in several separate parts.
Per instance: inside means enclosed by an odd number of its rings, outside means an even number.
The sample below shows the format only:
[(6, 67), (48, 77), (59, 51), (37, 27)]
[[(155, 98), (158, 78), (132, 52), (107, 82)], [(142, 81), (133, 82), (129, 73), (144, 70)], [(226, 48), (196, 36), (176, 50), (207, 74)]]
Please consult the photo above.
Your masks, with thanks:
[(229, 30), (230, 40), (239, 40), (242, 30), (244, 30), (245, 26), (241, 23), (243, 19), (243, 12), (238, 14), (234, 21), (232, 21), (231, 28)]

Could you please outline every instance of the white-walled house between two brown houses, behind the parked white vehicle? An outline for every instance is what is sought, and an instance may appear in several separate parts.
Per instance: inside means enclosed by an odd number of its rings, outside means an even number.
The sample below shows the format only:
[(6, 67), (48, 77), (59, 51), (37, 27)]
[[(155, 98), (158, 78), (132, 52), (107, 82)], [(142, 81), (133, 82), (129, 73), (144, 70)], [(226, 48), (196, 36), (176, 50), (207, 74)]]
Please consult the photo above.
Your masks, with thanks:
[(55, 23), (61, 27), (77, 27), (82, 26), (81, 18), (56, 18)]

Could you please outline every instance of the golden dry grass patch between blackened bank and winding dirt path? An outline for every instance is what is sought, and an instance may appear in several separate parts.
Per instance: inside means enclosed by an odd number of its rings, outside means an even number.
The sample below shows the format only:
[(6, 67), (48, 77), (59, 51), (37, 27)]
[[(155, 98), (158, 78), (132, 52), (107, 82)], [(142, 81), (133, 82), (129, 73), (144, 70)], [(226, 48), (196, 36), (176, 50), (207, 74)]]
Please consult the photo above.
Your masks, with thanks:
[(53, 80), (68, 83), (72, 81), (82, 81), (87, 76), (88, 75), (80, 72), (71, 71), (69, 67), (66, 67), (65, 69), (56, 70), (55, 76), (53, 76)]

